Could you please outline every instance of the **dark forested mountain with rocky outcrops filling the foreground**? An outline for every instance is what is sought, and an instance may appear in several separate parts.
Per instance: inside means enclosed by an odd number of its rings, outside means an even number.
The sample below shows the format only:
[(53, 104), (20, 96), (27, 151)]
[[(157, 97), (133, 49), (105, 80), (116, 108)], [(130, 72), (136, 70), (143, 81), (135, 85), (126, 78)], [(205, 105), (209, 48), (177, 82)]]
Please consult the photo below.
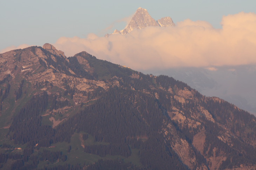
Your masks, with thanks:
[(255, 169), (256, 118), (50, 44), (0, 54), (2, 169)]

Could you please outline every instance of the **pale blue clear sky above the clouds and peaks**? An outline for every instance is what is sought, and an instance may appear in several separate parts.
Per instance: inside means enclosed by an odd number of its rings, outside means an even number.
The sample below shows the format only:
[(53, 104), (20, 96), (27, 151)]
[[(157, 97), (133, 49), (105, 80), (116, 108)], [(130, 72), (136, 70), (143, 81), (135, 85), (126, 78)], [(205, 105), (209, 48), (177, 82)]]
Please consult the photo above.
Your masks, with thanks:
[(146, 8), (156, 20), (165, 16), (175, 23), (203, 20), (215, 28), (221, 28), (223, 15), (256, 13), (255, 0), (0, 0), (0, 51), (11, 45), (55, 43), (63, 36), (104, 36), (123, 29), (126, 23), (116, 21), (133, 15), (138, 7)]

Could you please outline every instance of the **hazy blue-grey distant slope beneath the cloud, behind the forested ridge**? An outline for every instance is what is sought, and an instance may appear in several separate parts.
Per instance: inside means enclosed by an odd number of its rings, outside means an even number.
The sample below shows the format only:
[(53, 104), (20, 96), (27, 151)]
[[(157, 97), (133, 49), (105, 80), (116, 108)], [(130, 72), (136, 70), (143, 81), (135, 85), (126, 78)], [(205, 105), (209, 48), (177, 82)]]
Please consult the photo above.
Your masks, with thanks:
[(170, 68), (147, 70), (186, 82), (206, 96), (217, 96), (256, 115), (255, 65), (209, 68)]

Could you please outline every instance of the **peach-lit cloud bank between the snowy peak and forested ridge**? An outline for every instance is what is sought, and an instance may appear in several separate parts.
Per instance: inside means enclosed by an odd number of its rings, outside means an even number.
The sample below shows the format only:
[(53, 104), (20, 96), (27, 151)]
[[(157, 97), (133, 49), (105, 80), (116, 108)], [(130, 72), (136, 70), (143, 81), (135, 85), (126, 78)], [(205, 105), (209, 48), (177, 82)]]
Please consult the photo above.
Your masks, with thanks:
[(147, 27), (108, 38), (61, 37), (56, 49), (73, 56), (86, 51), (137, 70), (256, 64), (256, 14), (223, 16), (222, 29), (189, 19), (175, 27)]

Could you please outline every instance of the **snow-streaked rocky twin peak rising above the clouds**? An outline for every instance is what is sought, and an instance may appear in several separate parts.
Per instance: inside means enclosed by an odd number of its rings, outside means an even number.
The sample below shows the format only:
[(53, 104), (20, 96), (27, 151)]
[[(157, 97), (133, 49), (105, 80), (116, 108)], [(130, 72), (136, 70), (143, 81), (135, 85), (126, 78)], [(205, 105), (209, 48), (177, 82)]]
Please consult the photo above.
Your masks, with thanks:
[[(129, 34), (134, 29), (142, 29), (150, 26), (169, 27), (174, 25), (171, 17), (164, 17), (156, 21), (149, 15), (147, 9), (139, 7), (126, 28), (121, 31), (115, 30), (113, 34)], [(108, 37), (109, 35), (111, 34), (106, 34), (105, 37)]]

